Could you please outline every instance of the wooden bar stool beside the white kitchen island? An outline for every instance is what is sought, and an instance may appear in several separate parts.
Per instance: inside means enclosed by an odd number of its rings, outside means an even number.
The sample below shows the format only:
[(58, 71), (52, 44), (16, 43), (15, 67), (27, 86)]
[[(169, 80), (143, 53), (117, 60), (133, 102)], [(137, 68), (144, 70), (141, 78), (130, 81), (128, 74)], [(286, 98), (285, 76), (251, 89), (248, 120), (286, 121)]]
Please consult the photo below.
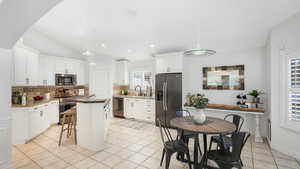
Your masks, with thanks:
[[(72, 135), (72, 131), (74, 132), (74, 139), (75, 139), (75, 144), (77, 144), (77, 130), (76, 130), (76, 121), (77, 121), (77, 116), (76, 116), (76, 107), (71, 108), (67, 111), (65, 111), (63, 114), (63, 119), (61, 122), (61, 132), (59, 136), (59, 143), (58, 146), (61, 145), (62, 141), (62, 135), (64, 131), (67, 131), (67, 138), (69, 138)], [(67, 128), (65, 128), (65, 125), (67, 125)]]

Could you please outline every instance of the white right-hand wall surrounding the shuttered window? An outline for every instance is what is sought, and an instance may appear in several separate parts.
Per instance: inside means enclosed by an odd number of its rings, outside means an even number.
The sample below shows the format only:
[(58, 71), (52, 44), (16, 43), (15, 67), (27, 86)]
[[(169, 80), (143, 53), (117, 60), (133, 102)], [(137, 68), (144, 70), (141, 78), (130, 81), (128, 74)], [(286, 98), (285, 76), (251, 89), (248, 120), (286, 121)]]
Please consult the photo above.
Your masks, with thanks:
[(286, 100), (282, 100), (286, 91), (282, 82), (286, 81), (284, 76), (287, 73), (286, 70), (283, 70), (284, 62), (282, 61), (286, 56), (282, 56), (280, 53), (284, 50), (284, 53), (300, 56), (299, 30), (300, 13), (275, 27), (271, 33), (268, 45), (268, 60), (270, 61), (268, 74), (271, 77), (268, 85), (268, 90), (271, 91), (269, 103), (272, 124), (271, 146), (298, 159), (300, 159), (300, 130), (299, 132), (289, 130), (282, 123), (282, 117), (287, 113), (287, 109), (284, 107)]

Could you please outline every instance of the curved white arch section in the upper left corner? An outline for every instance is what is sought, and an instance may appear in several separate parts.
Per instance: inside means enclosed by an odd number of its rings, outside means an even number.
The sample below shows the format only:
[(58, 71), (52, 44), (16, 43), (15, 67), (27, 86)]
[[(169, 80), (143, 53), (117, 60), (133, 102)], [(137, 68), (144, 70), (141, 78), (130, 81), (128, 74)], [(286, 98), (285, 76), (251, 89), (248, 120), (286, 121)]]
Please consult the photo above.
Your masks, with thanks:
[(0, 5), (0, 47), (10, 49), (22, 34), (61, 0), (3, 0)]

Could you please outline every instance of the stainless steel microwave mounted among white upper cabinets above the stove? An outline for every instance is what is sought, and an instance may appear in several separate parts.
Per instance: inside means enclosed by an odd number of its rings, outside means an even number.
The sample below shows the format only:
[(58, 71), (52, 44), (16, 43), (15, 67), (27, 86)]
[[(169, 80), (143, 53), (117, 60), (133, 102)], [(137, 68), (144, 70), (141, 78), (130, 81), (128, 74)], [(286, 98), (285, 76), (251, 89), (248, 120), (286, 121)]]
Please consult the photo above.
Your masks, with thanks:
[(74, 74), (56, 74), (56, 86), (74, 86), (77, 85), (77, 76)]

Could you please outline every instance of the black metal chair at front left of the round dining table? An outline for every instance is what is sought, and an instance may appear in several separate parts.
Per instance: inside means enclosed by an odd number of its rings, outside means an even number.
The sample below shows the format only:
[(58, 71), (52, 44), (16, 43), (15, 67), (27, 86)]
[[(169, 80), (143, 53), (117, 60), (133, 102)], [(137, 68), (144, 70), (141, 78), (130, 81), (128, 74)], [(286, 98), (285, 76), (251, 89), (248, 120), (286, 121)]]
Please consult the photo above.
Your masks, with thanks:
[[(160, 129), (160, 134), (161, 134), (161, 139), (164, 145), (163, 148), (163, 153), (162, 153), (162, 157), (161, 157), (161, 161), (160, 161), (160, 166), (162, 166), (164, 157), (165, 161), (166, 161), (166, 167), (165, 169), (169, 169), (170, 166), (170, 161), (171, 161), (171, 157), (174, 153), (181, 153), (181, 154), (185, 154), (187, 156), (187, 162), (189, 165), (189, 169), (192, 169), (192, 165), (191, 165), (191, 157), (190, 157), (190, 152), (189, 152), (189, 147), (186, 143), (184, 143), (182, 140), (173, 140), (172, 135), (169, 131), (168, 128), (163, 127), (161, 125), (161, 122), (159, 119), (157, 119), (158, 125), (159, 125), (159, 129)], [(165, 137), (167, 138), (167, 140), (165, 141)]]

